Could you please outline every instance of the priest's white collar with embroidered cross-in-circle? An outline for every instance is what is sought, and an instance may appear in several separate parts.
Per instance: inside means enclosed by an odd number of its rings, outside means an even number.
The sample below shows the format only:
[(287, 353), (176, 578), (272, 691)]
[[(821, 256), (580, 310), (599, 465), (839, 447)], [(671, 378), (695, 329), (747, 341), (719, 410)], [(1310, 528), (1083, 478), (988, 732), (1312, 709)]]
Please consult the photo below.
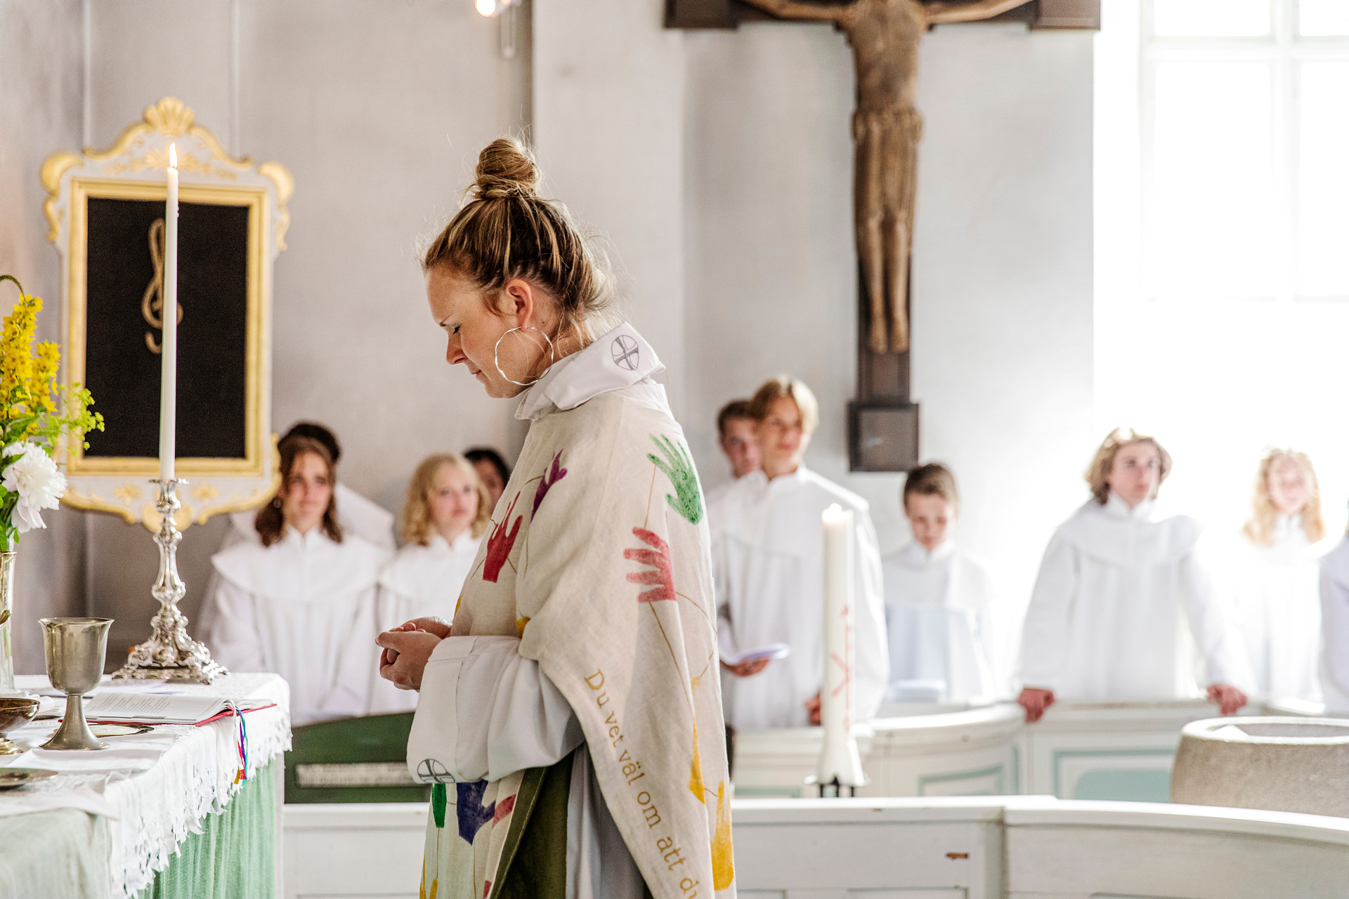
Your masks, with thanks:
[(537, 422), (553, 410), (576, 408), (600, 394), (631, 387), (664, 371), (650, 344), (623, 322), (585, 349), (553, 363), (525, 391), (515, 418)]

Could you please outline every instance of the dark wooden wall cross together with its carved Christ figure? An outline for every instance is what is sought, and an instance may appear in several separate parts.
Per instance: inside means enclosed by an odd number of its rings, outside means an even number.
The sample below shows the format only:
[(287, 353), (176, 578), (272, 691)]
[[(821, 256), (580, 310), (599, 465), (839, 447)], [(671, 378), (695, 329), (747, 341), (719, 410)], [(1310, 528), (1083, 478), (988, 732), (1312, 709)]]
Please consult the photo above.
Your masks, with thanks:
[(921, 135), (913, 94), (923, 31), (936, 23), (987, 20), (1098, 28), (1099, 0), (666, 0), (670, 28), (735, 28), (754, 19), (830, 23), (853, 44), (859, 298), (850, 466), (908, 470), (919, 464), (919, 408), (909, 402), (909, 245)]

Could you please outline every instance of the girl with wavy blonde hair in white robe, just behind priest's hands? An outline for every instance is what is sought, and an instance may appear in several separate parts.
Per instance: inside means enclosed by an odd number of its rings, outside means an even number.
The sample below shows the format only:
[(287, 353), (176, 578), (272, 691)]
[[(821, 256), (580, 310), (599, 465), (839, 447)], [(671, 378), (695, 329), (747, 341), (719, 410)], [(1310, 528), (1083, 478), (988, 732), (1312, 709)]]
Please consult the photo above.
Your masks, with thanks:
[[(487, 488), (457, 453), (428, 456), (413, 472), (403, 504), (403, 549), (379, 573), (379, 629), (417, 617), (455, 617), (478, 545), (491, 523)], [(371, 670), (370, 710), (411, 712), (417, 693), (398, 690)]]

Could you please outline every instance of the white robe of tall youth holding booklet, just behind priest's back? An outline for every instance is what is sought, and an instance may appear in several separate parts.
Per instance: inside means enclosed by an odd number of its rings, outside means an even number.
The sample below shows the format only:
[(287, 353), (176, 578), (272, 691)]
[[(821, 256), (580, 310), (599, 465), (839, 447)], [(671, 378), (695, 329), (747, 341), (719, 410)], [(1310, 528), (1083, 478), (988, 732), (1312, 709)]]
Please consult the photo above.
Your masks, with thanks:
[(805, 701), (824, 673), (824, 523), (838, 503), (853, 511), (855, 720), (876, 714), (889, 675), (881, 553), (866, 500), (804, 465), (769, 480), (751, 472), (708, 515), (723, 648), (785, 643), (792, 654), (747, 678), (722, 677), (726, 721), (737, 728), (805, 726)]

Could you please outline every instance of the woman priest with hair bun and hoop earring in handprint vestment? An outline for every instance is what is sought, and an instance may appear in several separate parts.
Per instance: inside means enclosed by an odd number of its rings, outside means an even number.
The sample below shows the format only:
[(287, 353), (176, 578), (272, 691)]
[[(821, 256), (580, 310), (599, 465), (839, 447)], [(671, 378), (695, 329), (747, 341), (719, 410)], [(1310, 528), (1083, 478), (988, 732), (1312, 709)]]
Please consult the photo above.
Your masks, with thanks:
[(734, 896), (703, 496), (604, 275), (514, 140), (428, 248), (447, 361), (532, 422), (453, 627), (384, 632), (436, 786), (422, 890), (456, 899)]

